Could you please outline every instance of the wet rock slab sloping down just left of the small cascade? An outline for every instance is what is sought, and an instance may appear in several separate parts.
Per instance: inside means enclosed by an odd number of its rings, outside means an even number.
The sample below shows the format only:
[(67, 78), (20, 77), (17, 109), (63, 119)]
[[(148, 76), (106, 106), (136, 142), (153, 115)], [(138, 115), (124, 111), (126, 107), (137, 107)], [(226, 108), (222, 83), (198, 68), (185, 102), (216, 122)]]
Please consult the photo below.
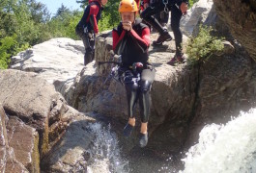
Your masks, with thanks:
[(43, 158), (45, 172), (77, 172), (87, 169), (87, 151), (94, 136), (88, 129), (94, 119), (75, 117), (60, 141)]

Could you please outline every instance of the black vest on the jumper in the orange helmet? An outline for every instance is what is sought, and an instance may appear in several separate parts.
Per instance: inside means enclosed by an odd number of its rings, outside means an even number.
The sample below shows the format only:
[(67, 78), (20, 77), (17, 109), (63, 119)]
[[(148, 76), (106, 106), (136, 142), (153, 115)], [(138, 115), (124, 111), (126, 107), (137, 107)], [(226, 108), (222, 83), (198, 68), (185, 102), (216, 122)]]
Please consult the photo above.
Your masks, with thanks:
[[(135, 19), (135, 23), (132, 26), (132, 29), (138, 34), (138, 36), (142, 35), (142, 31), (144, 28), (148, 28), (148, 26), (141, 22), (142, 20), (140, 18)], [(118, 35), (121, 36), (123, 32), (123, 25), (120, 23), (117, 28), (114, 29), (117, 31)], [(123, 37), (122, 44), (124, 47), (122, 50), (122, 65), (123, 66), (130, 66), (133, 62), (142, 62), (144, 65), (147, 64), (149, 60), (148, 51), (142, 51), (135, 42), (135, 38), (126, 34), (125, 37)]]

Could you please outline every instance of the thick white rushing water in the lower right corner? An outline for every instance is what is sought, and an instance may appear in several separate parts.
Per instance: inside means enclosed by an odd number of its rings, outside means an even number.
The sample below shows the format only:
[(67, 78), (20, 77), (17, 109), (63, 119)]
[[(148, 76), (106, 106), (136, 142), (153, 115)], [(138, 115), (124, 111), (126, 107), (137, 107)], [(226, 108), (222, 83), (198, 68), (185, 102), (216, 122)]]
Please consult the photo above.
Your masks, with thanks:
[(256, 109), (226, 125), (207, 125), (186, 153), (183, 173), (255, 173)]

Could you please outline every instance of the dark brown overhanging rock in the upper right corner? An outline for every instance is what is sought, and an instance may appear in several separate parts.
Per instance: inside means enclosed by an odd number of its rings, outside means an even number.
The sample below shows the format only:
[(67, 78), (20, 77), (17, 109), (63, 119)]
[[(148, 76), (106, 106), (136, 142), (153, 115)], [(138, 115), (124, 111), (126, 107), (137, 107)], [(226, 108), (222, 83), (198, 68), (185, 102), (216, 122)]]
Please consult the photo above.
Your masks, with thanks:
[(238, 39), (251, 58), (256, 61), (256, 1), (213, 0), (215, 10), (232, 36)]

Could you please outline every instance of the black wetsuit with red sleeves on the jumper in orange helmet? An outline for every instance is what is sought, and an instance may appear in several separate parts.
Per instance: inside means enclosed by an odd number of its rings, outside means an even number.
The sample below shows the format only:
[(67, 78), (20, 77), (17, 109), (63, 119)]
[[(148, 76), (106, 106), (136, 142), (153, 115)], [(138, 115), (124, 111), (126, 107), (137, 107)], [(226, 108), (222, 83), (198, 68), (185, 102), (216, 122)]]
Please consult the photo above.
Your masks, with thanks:
[[(123, 30), (122, 23), (113, 29), (113, 49), (122, 55), (122, 69), (125, 71), (125, 85), (128, 99), (128, 115), (134, 117), (134, 107), (139, 100), (141, 122), (148, 122), (150, 114), (150, 88), (154, 82), (156, 70), (148, 63), (150, 40), (149, 27), (136, 19), (133, 31)], [(147, 37), (143, 36), (146, 33)], [(145, 35), (144, 35), (145, 36)], [(134, 62), (143, 63), (143, 67), (132, 70)]]

